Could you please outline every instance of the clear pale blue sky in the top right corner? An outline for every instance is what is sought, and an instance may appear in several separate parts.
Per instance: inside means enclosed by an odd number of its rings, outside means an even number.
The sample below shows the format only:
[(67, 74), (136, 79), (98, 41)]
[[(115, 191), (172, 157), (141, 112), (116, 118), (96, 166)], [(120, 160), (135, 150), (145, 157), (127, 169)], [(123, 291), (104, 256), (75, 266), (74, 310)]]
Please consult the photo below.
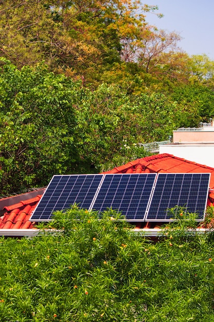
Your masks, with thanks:
[(183, 38), (179, 46), (188, 55), (205, 53), (214, 60), (214, 0), (144, 0), (142, 3), (157, 5), (164, 17), (152, 13), (146, 21), (159, 29), (176, 31)]

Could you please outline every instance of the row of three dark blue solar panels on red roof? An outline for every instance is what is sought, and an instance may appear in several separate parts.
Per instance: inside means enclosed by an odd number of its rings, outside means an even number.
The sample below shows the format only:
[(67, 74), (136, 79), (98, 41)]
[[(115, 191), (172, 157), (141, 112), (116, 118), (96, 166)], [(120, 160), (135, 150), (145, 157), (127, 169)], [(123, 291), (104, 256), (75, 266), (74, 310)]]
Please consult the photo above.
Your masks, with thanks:
[(209, 180), (209, 173), (54, 175), (30, 220), (50, 221), (74, 203), (99, 213), (112, 208), (128, 221), (169, 221), (167, 209), (178, 205), (203, 220)]

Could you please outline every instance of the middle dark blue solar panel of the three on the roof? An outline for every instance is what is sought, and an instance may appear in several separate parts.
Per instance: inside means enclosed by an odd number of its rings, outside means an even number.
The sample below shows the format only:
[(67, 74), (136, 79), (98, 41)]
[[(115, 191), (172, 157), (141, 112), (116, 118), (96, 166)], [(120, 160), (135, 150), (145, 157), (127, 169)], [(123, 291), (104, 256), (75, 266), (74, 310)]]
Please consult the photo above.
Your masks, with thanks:
[(112, 208), (129, 221), (144, 221), (156, 175), (106, 174), (91, 208), (99, 213)]

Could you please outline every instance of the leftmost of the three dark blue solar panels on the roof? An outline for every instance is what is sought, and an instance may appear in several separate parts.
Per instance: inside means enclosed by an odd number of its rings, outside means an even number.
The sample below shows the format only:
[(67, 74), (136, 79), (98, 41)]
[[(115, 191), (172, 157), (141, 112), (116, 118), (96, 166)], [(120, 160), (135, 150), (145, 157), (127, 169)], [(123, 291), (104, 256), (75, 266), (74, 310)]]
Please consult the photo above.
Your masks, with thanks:
[(30, 220), (49, 221), (53, 211), (74, 203), (88, 209), (102, 178), (102, 174), (54, 175)]

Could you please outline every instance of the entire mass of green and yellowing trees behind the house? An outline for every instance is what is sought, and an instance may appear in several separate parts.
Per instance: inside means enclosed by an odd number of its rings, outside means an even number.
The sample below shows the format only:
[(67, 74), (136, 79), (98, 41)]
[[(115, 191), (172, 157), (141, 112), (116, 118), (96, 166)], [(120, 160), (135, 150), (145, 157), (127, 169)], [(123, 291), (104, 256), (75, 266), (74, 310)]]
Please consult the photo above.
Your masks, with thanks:
[(214, 63), (139, 0), (0, 1), (0, 194), (143, 157), (213, 116)]

